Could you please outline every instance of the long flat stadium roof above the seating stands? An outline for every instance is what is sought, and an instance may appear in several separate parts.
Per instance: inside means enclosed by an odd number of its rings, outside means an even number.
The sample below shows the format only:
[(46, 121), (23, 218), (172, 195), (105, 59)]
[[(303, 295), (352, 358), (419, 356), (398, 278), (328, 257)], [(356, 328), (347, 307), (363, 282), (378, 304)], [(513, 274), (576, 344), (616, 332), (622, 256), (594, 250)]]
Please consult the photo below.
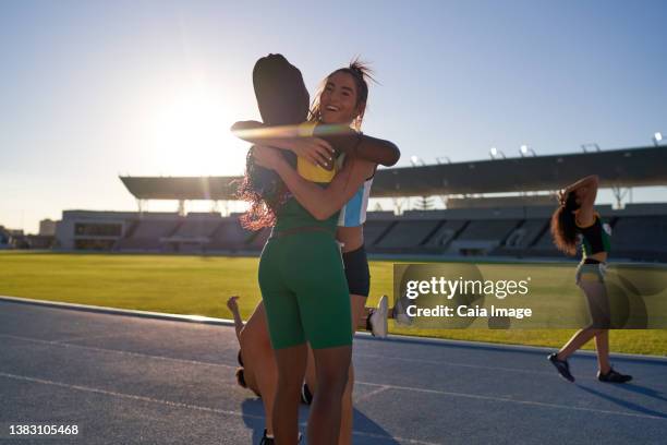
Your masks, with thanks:
[[(476, 160), (378, 170), (372, 197), (558, 190), (589, 175), (602, 188), (667, 185), (667, 147)], [(140, 200), (234, 200), (239, 177), (121, 177)]]

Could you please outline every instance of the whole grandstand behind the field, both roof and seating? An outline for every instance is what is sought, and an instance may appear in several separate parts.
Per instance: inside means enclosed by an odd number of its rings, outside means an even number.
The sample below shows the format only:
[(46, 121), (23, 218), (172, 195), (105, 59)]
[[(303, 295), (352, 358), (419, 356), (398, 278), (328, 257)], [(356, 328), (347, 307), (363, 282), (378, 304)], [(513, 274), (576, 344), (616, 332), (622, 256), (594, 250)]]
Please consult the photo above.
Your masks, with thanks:
[[(667, 185), (667, 151), (640, 146), (546, 156), (478, 159), (460, 163), (379, 169), (371, 199), (402, 200), (440, 196), (447, 209), (369, 212), (364, 226), (372, 254), (454, 257), (496, 256), (563, 258), (551, 240), (549, 219), (554, 191), (594, 172), (599, 188), (620, 193), (633, 188)], [(120, 177), (140, 203), (153, 200), (237, 201), (240, 177)], [(617, 200), (621, 199), (621, 194)], [(398, 203), (398, 201), (397, 201)], [(615, 229), (611, 255), (620, 260), (667, 261), (667, 204), (627, 204), (623, 209), (596, 206)], [(238, 215), (63, 212), (57, 230), (64, 250), (114, 243), (118, 251), (207, 252), (257, 254), (269, 230), (244, 230)], [(122, 226), (117, 238), (85, 240), (75, 224)], [(110, 237), (107, 237), (110, 238)], [(98, 242), (99, 241), (99, 242)], [(104, 241), (104, 242), (102, 242)]]

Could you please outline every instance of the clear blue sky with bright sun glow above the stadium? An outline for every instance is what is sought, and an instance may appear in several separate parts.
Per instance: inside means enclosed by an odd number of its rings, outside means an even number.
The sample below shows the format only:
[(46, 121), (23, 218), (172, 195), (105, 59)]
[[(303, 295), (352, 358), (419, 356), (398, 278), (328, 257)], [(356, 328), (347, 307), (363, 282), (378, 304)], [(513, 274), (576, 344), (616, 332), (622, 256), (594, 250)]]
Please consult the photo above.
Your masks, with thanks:
[(257, 117), (268, 52), (311, 91), (371, 61), (364, 131), (401, 165), (648, 145), (667, 132), (666, 29), (659, 0), (2, 1), (0, 225), (135, 209), (119, 173), (241, 173), (227, 129)]

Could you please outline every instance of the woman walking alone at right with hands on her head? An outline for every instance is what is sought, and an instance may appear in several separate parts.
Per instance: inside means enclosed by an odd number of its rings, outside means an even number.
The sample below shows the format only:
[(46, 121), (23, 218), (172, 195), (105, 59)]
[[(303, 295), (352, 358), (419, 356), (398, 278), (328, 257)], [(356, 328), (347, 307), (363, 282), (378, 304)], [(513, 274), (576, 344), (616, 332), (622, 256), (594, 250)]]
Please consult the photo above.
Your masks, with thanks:
[(601, 382), (626, 383), (632, 376), (621, 374), (609, 363), (609, 327), (611, 314), (605, 287), (605, 273), (609, 253), (609, 226), (603, 224), (594, 209), (598, 178), (583, 178), (558, 192), (559, 207), (551, 216), (551, 234), (556, 246), (568, 255), (577, 254), (581, 239), (582, 260), (577, 267), (577, 286), (586, 297), (592, 323), (578, 330), (557, 353), (548, 359), (558, 373), (574, 382), (568, 358), (592, 338), (597, 351), (597, 378)]

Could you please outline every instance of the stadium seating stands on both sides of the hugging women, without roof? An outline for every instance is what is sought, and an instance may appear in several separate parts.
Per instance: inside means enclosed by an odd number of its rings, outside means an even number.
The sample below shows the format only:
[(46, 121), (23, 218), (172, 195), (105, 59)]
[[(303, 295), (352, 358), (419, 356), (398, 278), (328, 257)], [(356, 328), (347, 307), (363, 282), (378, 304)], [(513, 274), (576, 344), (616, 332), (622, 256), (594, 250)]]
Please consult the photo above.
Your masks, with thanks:
[[(667, 261), (667, 204), (596, 208), (613, 228), (613, 257)], [(453, 208), (401, 216), (369, 212), (364, 240), (371, 254), (562, 258), (549, 231), (553, 211), (553, 206)], [(125, 230), (113, 251), (258, 254), (270, 230), (245, 230), (239, 216), (124, 214)]]

